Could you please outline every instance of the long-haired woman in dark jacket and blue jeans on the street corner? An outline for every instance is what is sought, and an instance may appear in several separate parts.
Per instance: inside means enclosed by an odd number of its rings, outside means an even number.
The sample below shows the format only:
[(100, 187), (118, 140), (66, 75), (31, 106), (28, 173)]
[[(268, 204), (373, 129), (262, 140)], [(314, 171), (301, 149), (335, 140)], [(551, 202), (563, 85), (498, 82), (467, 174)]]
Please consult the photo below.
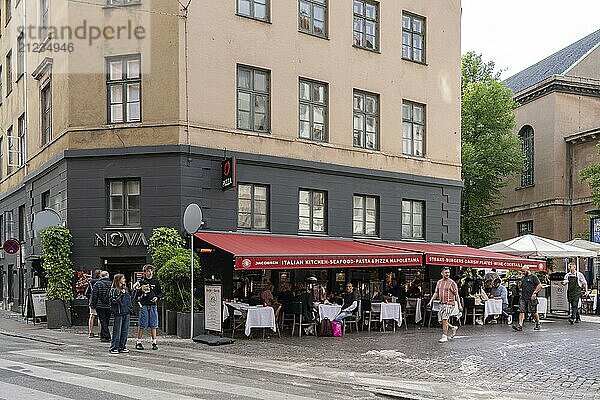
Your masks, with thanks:
[(127, 290), (125, 275), (116, 274), (110, 289), (110, 307), (115, 322), (113, 337), (110, 343), (110, 354), (129, 353), (127, 349), (127, 334), (129, 333), (129, 318), (133, 305)]

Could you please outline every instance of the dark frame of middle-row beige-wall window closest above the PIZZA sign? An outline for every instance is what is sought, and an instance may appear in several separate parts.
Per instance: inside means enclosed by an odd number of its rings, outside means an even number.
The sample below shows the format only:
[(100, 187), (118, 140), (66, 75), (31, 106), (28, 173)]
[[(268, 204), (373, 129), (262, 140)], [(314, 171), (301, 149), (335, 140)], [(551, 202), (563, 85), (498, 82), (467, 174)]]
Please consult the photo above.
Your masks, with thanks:
[[(251, 82), (250, 89), (244, 88), (240, 86), (240, 71), (246, 70), (250, 72)], [(259, 91), (255, 88), (255, 73), (264, 73), (266, 74), (266, 92)], [(237, 64), (236, 67), (236, 105), (235, 105), (235, 119), (236, 119), (236, 129), (245, 132), (256, 132), (256, 133), (271, 133), (271, 71), (264, 68), (251, 67), (244, 64)], [(240, 126), (240, 93), (246, 93), (250, 95), (250, 109), (247, 111), (249, 113), (249, 128), (244, 128)], [(265, 129), (255, 129), (255, 117), (256, 117), (256, 96), (266, 96), (267, 104), (265, 107)], [(242, 110), (246, 112), (245, 110)]]

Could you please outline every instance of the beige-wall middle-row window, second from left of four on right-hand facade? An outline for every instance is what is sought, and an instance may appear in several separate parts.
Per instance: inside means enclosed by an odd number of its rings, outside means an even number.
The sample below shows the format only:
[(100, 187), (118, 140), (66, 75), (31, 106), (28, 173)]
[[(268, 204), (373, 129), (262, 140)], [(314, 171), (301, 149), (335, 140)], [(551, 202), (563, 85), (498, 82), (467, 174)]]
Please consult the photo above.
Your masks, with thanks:
[(300, 127), (303, 139), (327, 141), (327, 84), (300, 79)]

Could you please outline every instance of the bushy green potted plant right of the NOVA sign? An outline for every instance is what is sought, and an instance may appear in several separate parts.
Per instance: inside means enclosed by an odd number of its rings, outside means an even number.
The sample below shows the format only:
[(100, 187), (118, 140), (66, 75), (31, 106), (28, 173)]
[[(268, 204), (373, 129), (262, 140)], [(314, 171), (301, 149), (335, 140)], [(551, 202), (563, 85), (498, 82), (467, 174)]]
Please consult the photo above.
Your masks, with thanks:
[[(183, 250), (167, 261), (158, 271), (157, 276), (170, 309), (177, 311), (177, 336), (189, 338), (191, 318), (190, 255), (185, 249)], [(198, 266), (198, 268), (194, 268), (194, 280), (201, 282), (199, 258), (196, 255), (194, 257), (194, 266)], [(199, 297), (196, 296), (194, 299), (194, 336), (204, 331), (204, 313), (201, 312), (202, 301)]]

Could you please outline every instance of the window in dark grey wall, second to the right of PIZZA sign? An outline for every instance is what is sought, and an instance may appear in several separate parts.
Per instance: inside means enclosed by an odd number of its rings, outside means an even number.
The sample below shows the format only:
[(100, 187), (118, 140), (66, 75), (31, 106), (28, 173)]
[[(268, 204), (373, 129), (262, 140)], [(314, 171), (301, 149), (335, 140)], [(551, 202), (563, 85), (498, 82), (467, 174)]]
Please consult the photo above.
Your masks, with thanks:
[(298, 231), (327, 232), (327, 194), (325, 192), (300, 189)]

